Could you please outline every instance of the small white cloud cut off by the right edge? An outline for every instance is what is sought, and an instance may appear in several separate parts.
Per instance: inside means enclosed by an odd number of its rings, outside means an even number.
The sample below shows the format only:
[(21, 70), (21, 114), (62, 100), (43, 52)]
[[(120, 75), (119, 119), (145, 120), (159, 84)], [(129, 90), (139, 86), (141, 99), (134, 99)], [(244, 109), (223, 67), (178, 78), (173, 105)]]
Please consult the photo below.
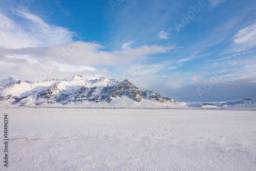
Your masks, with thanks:
[(234, 42), (237, 44), (248, 43), (249, 46), (255, 45), (256, 39), (256, 23), (241, 29), (235, 36)]

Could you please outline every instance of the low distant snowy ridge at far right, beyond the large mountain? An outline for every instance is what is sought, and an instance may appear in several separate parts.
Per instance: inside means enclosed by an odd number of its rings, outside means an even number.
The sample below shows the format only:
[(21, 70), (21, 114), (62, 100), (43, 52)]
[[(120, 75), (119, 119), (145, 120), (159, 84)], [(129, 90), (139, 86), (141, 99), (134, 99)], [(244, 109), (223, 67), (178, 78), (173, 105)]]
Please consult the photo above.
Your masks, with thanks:
[(182, 104), (196, 108), (256, 108), (256, 99), (243, 98), (217, 102), (182, 102)]

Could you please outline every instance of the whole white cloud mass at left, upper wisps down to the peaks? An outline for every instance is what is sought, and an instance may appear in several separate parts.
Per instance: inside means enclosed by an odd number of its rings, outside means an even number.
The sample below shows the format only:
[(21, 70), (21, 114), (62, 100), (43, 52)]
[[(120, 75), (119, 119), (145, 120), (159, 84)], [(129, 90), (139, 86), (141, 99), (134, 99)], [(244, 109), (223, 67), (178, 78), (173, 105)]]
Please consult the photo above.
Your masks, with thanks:
[[(110, 71), (101, 66), (128, 64), (141, 56), (167, 53), (177, 48), (157, 45), (131, 48), (134, 41), (129, 41), (120, 51), (104, 51), (98, 42), (72, 41), (74, 32), (49, 25), (34, 14), (13, 12), (19, 16), (18, 20), (0, 13), (1, 77), (14, 75), (33, 80), (35, 75), (40, 76), (46, 70), (50, 73), (47, 77), (55, 78), (72, 76), (74, 72), (102, 76)], [(157, 72), (158, 67), (155, 69)]]

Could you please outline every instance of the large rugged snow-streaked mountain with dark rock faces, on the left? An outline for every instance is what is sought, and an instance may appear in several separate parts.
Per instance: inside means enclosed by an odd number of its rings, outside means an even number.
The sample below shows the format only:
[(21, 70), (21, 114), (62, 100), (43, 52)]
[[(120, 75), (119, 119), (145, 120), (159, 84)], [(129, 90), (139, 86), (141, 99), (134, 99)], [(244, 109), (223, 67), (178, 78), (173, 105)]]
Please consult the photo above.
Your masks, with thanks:
[[(13, 79), (8, 79), (8, 81), (15, 81), (15, 85), (9, 87), (6, 92), (4, 90), (7, 87), (2, 86), (0, 89), (0, 104), (4, 102), (16, 105), (26, 105), (27, 103), (36, 105), (46, 103), (68, 104), (82, 101), (111, 102), (115, 97), (127, 97), (136, 102), (142, 102), (144, 99), (161, 103), (176, 102), (172, 98), (162, 97), (155, 91), (141, 91), (127, 79), (121, 82), (105, 77), (88, 80), (77, 75), (72, 79), (46, 79), (42, 82), (34, 83)], [(3, 84), (8, 81), (2, 80)], [(9, 89), (15, 90), (14, 92), (17, 95), (9, 94), (11, 92)], [(17, 93), (16, 89), (26, 91)]]

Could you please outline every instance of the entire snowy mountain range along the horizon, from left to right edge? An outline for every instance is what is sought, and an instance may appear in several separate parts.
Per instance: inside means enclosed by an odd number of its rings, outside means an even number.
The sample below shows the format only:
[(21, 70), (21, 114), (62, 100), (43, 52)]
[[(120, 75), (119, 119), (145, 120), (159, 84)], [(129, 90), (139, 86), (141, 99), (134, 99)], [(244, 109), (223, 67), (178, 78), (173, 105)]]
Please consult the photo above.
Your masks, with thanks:
[(0, 80), (0, 105), (50, 105), (138, 108), (256, 108), (255, 99), (223, 102), (178, 102), (155, 91), (141, 91), (127, 79), (118, 81), (101, 77), (89, 80), (80, 75), (41, 82), (13, 77)]

